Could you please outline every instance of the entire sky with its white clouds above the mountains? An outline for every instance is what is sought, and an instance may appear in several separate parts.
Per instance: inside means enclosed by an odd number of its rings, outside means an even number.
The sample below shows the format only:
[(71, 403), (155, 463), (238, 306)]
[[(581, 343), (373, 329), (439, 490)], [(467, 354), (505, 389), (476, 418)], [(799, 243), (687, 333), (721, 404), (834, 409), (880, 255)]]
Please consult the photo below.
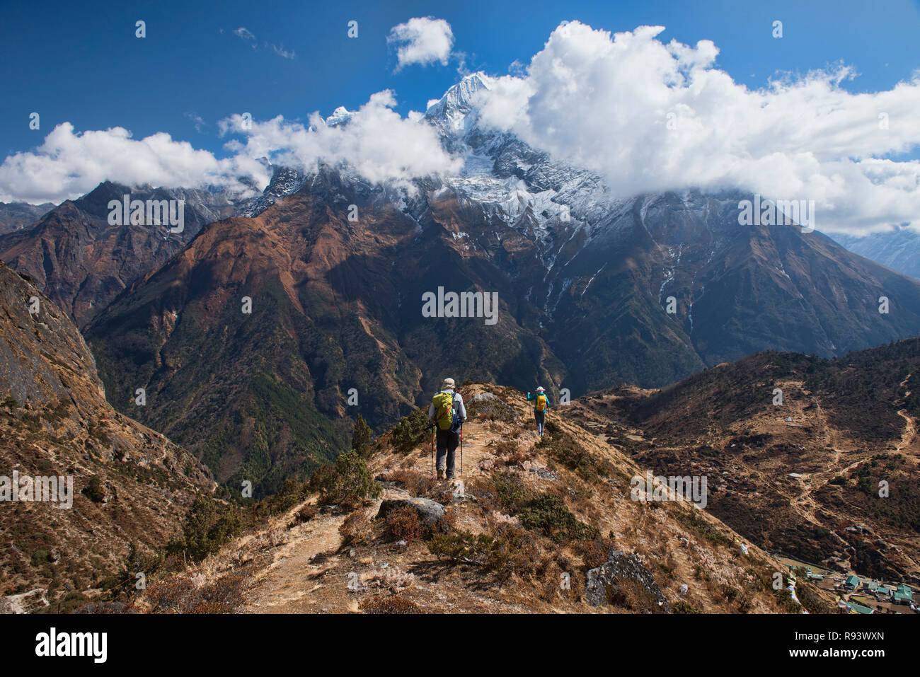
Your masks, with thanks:
[[(742, 189), (813, 202), (825, 232), (920, 229), (920, 0), (90, 0), (2, 16), (0, 201), (103, 180), (244, 194), (268, 183), (265, 158), (449, 182), (484, 165), (409, 112), (482, 71), (470, 120), (610, 195)], [(311, 117), (339, 106), (347, 124)]]

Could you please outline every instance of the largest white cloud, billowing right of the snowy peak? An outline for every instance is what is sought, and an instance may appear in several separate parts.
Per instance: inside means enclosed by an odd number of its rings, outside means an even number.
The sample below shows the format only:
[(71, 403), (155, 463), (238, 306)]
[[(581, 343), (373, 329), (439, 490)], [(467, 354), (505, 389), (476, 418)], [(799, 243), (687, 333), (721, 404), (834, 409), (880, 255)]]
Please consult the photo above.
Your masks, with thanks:
[(920, 143), (920, 76), (851, 94), (837, 66), (752, 90), (716, 67), (712, 41), (662, 30), (562, 24), (524, 75), (490, 79), (482, 119), (624, 196), (741, 188), (816, 201), (822, 230), (920, 225), (920, 164), (887, 159)]

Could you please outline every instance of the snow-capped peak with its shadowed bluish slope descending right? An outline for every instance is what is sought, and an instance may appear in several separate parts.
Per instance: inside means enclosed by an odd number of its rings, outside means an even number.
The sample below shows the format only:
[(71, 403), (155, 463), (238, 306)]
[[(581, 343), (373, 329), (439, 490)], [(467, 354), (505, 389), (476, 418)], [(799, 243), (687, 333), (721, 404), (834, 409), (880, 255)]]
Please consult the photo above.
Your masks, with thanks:
[[(465, 157), (445, 188), (532, 243), (522, 287), (572, 392), (669, 384), (757, 350), (833, 356), (920, 333), (915, 281), (797, 225), (741, 225), (739, 202), (755, 197), (740, 191), (616, 197), (590, 171), (483, 125), (488, 87), (469, 75), (426, 113)], [(486, 252), (499, 237), (462, 230)], [(882, 295), (896, 316), (878, 312)]]

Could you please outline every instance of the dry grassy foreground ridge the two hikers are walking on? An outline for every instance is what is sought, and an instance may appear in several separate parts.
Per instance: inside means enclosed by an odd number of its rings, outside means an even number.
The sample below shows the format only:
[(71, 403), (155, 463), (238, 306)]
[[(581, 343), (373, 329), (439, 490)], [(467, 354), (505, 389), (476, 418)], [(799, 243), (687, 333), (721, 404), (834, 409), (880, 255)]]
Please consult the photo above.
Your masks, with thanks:
[[(639, 502), (644, 469), (604, 435), (523, 394), (462, 388), (464, 472), (431, 480), (413, 414), (366, 452), (379, 497), (304, 499), (200, 565), (156, 579), (128, 609), (253, 613), (811, 613), (833, 601), (683, 500)], [(600, 432), (600, 431), (598, 431)], [(370, 477), (370, 476), (369, 476)], [(312, 484), (313, 482), (311, 482)], [(783, 579), (785, 586), (787, 579)], [(213, 607), (211, 607), (213, 608)]]

